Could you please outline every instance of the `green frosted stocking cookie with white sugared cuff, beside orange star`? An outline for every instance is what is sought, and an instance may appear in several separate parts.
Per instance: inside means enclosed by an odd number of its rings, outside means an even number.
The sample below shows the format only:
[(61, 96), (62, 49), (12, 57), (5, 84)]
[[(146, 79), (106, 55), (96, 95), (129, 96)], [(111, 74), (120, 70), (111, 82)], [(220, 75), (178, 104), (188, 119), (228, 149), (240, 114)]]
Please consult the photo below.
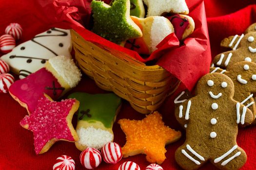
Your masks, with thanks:
[(83, 151), (87, 147), (100, 149), (113, 141), (113, 123), (121, 106), (121, 98), (114, 93), (88, 94), (76, 92), (68, 96), (80, 102), (76, 131), (79, 140), (76, 147)]

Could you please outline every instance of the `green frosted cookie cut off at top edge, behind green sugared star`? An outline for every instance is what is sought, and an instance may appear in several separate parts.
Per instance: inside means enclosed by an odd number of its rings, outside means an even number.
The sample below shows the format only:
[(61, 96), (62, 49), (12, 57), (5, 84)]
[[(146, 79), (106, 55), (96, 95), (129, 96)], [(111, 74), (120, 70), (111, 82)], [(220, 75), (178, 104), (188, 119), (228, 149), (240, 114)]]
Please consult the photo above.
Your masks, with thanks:
[[(112, 0), (110, 4), (112, 4), (115, 0)], [(145, 17), (145, 8), (142, 0), (130, 0), (130, 16), (136, 17)]]

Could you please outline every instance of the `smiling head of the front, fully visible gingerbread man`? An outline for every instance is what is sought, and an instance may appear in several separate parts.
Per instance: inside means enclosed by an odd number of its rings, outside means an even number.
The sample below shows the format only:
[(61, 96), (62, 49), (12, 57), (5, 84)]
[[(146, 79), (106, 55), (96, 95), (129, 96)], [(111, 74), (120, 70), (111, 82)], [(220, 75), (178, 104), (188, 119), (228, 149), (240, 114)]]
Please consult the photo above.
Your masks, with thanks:
[(232, 98), (234, 96), (234, 84), (232, 80), (221, 73), (209, 73), (203, 76), (197, 83), (196, 95), (207, 98)]

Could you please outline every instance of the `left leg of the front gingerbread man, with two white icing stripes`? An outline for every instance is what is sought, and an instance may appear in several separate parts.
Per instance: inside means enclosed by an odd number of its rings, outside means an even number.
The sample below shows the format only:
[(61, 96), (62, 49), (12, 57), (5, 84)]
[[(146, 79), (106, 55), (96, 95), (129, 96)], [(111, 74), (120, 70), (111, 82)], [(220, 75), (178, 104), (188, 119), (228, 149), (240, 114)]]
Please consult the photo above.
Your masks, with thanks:
[(208, 158), (200, 155), (189, 144), (183, 144), (176, 150), (175, 159), (178, 165), (184, 170), (197, 170)]

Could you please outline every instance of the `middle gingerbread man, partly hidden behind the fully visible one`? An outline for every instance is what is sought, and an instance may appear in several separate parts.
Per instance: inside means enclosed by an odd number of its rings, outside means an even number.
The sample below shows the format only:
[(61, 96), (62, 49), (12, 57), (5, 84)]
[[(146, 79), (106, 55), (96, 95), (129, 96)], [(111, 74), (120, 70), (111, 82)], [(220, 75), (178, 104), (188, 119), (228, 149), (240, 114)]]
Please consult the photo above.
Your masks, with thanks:
[(253, 96), (256, 93), (256, 64), (242, 61), (228, 67), (227, 70), (211, 68), (211, 72), (223, 73), (232, 79), (235, 85), (233, 99), (246, 105), (253, 112), (255, 118), (256, 104)]

